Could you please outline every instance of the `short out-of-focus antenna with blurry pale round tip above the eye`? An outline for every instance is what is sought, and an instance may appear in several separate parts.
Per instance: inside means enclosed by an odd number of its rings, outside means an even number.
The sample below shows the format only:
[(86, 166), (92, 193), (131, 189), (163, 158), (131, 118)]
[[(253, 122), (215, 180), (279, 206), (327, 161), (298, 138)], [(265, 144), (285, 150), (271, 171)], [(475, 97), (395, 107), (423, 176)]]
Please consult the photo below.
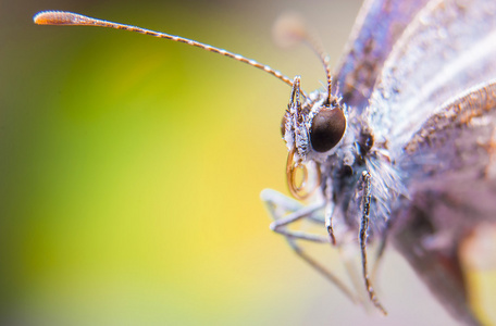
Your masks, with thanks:
[(294, 43), (302, 42), (315, 52), (324, 65), (327, 78), (327, 99), (325, 104), (331, 104), (334, 97), (332, 96), (333, 77), (328, 64), (330, 57), (325, 52), (317, 33), (307, 26), (305, 20), (299, 14), (286, 13), (281, 15), (274, 24), (273, 35), (281, 47), (289, 47)]

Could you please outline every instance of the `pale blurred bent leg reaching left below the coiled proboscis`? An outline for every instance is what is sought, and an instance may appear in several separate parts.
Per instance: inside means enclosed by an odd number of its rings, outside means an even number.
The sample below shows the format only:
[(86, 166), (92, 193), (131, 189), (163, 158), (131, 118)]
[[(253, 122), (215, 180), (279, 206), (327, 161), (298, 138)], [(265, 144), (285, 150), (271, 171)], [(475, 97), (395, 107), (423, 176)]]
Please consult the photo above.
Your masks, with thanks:
[(317, 272), (333, 283), (352, 302), (359, 301), (352, 291), (350, 291), (349, 288), (342, 280), (339, 280), (338, 277), (331, 273), (331, 271), (328, 271), (326, 267), (319, 264), (297, 243), (297, 240), (328, 243), (328, 237), (324, 235), (314, 235), (303, 231), (289, 230), (286, 228), (286, 226), (289, 224), (301, 218), (307, 218), (309, 221), (322, 224), (323, 221), (322, 217), (319, 216), (319, 213), (324, 204), (317, 203), (313, 205), (305, 206), (300, 202), (272, 189), (264, 189), (260, 197), (265, 203), (271, 217), (274, 220), (274, 222), (271, 224), (271, 229), (283, 235), (298, 256), (300, 256)]

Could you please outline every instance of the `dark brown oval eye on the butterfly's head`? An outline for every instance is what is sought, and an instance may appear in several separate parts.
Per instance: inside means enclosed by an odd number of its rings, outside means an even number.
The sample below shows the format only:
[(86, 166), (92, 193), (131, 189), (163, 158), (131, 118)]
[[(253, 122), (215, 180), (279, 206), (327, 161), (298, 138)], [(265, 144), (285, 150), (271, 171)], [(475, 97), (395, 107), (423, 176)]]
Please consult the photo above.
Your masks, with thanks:
[(313, 150), (323, 153), (335, 147), (345, 135), (346, 117), (339, 106), (323, 108), (313, 116), (310, 141)]

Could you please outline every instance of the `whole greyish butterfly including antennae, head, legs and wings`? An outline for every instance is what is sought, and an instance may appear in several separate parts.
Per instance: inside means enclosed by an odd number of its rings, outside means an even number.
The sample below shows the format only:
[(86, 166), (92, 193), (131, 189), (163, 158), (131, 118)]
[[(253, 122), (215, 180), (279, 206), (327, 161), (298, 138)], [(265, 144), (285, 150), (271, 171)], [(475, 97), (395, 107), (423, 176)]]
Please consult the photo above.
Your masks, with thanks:
[[(324, 89), (305, 92), (299, 76), (198, 41), (69, 12), (40, 12), (40, 25), (126, 29), (185, 42), (261, 68), (292, 87), (282, 123), (292, 197), (263, 190), (271, 228), (295, 252), (351, 293), (300, 247), (300, 240), (360, 251), (390, 242), (459, 322), (478, 325), (460, 258), (476, 228), (496, 223), (496, 2), (365, 1)], [(289, 24), (292, 25), (292, 24)], [(284, 29), (284, 28), (283, 28)], [(298, 221), (324, 230), (295, 229)]]

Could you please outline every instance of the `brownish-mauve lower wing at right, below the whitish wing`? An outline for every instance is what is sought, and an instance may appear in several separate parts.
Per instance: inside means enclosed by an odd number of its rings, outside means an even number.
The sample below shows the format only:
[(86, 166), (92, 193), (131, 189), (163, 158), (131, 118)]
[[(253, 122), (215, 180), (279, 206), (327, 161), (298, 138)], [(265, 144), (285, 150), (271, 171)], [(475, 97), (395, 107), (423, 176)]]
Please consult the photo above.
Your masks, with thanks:
[(409, 198), (394, 211), (393, 241), (458, 321), (470, 309), (460, 246), (476, 226), (496, 223), (496, 79), (432, 115), (405, 147), (398, 166)]

